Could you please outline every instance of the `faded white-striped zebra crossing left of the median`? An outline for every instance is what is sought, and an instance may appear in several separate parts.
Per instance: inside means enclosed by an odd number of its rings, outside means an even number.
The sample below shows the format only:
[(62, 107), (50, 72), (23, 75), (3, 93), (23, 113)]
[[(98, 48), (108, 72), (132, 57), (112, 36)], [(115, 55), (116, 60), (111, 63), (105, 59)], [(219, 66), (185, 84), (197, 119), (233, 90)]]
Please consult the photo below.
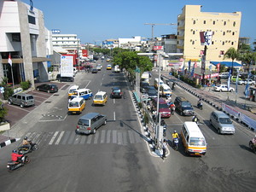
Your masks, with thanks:
[(38, 145), (117, 144), (143, 143), (143, 136), (136, 131), (98, 130), (96, 134), (78, 135), (75, 131), (28, 132), (26, 136)]

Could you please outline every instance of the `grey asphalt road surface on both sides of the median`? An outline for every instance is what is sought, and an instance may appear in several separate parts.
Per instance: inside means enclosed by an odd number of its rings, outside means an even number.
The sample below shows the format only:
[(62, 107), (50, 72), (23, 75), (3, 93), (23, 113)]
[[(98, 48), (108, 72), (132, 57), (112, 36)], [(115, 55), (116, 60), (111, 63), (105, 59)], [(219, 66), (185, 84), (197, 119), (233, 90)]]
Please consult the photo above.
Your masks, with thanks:
[[(255, 154), (247, 148), (252, 132), (235, 123), (235, 135), (218, 135), (208, 121), (215, 109), (204, 103), (203, 111), (195, 108), (195, 112), (207, 139), (207, 154), (189, 157), (182, 145), (178, 151), (169, 146), (168, 157), (162, 160), (152, 154), (143, 138), (123, 73), (106, 70), (106, 64), (102, 63), (99, 73), (79, 73), (75, 84), (94, 94), (107, 91), (108, 96), (113, 86), (120, 86), (125, 97), (109, 98), (103, 107), (88, 100), (79, 115), (67, 115), (67, 89), (50, 97), (52, 103), (29, 113), (31, 121), (38, 119), (34, 125), (27, 120), (19, 127), (39, 144), (38, 151), (29, 154), (31, 163), (9, 173), (6, 163), (19, 142), (1, 148), (1, 191), (254, 191)], [(197, 102), (178, 87), (175, 96), (187, 97), (194, 106)], [(95, 135), (76, 135), (79, 117), (88, 112), (108, 115), (107, 125)], [(183, 122), (190, 119), (177, 113), (166, 119), (169, 143), (172, 131), (180, 132)]]

